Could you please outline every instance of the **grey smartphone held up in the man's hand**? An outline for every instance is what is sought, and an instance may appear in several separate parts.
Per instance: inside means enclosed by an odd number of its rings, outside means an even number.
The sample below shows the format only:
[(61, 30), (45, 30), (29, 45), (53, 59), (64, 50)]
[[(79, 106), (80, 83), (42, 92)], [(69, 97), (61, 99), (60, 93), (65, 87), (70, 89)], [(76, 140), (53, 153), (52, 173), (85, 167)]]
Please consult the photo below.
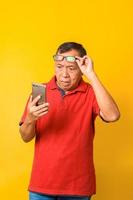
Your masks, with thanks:
[(40, 83), (32, 83), (32, 100), (40, 95), (37, 106), (46, 102), (46, 85)]

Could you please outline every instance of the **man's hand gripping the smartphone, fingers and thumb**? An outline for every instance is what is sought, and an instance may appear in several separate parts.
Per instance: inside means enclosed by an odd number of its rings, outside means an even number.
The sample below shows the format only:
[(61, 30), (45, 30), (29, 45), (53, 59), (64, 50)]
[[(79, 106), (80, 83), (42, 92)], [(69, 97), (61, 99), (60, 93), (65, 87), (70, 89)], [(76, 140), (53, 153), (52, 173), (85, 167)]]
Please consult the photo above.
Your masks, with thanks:
[(32, 100), (32, 95), (30, 96), (27, 118), (31, 122), (36, 121), (39, 117), (48, 113), (49, 103), (43, 103), (37, 106), (37, 102), (40, 98), (40, 95), (38, 95), (35, 99)]

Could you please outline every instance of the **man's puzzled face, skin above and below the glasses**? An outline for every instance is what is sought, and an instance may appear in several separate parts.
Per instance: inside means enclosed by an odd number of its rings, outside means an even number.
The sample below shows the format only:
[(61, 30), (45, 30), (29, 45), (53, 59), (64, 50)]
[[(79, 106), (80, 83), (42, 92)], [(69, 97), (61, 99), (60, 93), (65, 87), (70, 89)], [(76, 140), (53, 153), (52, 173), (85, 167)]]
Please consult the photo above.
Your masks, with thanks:
[[(79, 52), (74, 49), (65, 53), (58, 52), (57, 55), (80, 56)], [(62, 61), (55, 61), (55, 75), (58, 86), (64, 91), (75, 89), (82, 77), (77, 62), (68, 62), (65, 59)]]

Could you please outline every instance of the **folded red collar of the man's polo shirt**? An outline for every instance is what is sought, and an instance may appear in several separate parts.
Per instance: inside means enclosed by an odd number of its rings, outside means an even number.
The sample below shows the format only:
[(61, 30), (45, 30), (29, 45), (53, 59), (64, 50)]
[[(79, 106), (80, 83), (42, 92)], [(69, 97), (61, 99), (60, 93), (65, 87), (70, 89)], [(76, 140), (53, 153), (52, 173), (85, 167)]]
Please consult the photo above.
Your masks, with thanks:
[[(48, 82), (48, 88), (51, 89), (51, 90), (54, 90), (54, 89), (58, 89), (58, 86), (56, 84), (56, 76), (54, 76), (49, 82)], [(75, 88), (74, 90), (72, 91), (69, 91), (68, 93), (75, 93), (75, 92), (86, 92), (86, 89), (87, 89), (87, 83), (83, 80), (83, 78), (81, 78), (80, 82), (79, 82), (79, 85), (77, 88)], [(67, 94), (68, 94), (67, 93)]]

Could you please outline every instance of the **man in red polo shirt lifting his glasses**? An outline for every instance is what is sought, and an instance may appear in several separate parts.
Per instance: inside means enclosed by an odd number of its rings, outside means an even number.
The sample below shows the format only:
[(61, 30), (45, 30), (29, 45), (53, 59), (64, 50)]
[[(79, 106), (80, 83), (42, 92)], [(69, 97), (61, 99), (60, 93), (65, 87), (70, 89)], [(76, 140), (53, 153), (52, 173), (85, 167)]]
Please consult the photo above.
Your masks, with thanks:
[[(119, 119), (116, 103), (96, 75), (81, 44), (59, 46), (47, 102), (29, 98), (20, 122), (25, 142), (35, 137), (30, 200), (89, 200), (95, 194), (94, 121)], [(89, 83), (84, 82), (85, 75)]]

